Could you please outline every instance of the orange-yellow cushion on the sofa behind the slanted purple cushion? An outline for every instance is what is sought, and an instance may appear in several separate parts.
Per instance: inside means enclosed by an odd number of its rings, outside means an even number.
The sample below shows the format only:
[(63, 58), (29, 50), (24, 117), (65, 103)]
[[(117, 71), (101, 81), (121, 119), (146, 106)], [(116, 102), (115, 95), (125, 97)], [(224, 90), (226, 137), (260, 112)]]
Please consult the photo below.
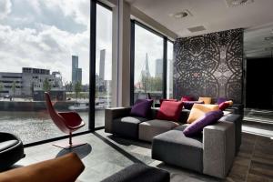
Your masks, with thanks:
[(187, 123), (193, 123), (197, 120), (200, 116), (204, 116), (207, 112), (210, 111), (217, 111), (219, 110), (218, 105), (202, 105), (202, 104), (195, 104), (189, 113), (187, 118)]

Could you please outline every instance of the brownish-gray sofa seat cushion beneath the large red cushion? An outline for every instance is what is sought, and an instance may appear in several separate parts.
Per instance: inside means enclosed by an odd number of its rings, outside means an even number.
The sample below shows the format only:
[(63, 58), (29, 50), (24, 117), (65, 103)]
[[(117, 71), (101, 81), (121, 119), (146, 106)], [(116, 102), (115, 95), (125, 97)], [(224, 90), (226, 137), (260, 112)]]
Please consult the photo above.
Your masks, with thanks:
[(151, 142), (154, 136), (179, 126), (177, 122), (153, 119), (139, 124), (138, 138)]

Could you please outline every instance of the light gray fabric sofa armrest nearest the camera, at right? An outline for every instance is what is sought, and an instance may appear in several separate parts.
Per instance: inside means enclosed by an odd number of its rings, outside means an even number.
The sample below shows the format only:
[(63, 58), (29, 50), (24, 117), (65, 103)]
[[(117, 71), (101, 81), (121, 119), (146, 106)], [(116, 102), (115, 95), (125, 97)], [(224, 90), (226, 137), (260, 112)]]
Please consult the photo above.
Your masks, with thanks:
[(203, 172), (224, 178), (235, 157), (235, 126), (231, 122), (217, 122), (203, 129)]

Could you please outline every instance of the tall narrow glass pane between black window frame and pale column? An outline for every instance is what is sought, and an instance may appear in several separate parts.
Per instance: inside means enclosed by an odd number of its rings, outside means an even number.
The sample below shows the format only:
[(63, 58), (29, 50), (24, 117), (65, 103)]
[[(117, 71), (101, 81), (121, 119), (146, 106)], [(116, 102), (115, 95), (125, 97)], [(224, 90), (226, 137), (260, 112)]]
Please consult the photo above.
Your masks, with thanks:
[(105, 126), (105, 108), (111, 105), (112, 11), (96, 5), (96, 113), (95, 127)]

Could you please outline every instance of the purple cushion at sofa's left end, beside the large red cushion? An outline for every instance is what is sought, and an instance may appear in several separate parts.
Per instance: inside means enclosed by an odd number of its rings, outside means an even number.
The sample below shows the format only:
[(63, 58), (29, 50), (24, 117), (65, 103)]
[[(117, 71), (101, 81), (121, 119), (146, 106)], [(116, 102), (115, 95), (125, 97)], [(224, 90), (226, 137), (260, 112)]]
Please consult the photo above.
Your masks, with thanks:
[(152, 99), (137, 99), (131, 109), (131, 116), (147, 117), (147, 113), (153, 105)]

